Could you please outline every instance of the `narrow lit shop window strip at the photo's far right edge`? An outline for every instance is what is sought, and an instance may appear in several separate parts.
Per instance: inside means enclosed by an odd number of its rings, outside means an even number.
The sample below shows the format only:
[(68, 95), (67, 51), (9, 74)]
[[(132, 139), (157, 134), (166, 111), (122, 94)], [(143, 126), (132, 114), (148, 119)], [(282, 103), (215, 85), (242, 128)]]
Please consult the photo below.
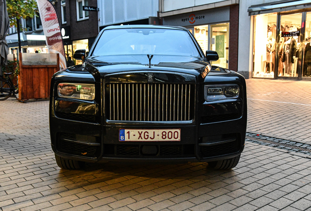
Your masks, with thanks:
[(302, 77), (311, 77), (311, 12), (307, 13)]

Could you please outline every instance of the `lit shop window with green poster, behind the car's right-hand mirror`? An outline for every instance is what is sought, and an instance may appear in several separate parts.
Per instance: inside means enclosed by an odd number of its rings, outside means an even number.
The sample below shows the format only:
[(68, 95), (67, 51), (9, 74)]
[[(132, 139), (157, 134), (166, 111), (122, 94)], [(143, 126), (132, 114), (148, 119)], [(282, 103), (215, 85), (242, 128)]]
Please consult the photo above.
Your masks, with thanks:
[(211, 25), (211, 50), (216, 51), (219, 60), (212, 65), (228, 68), (229, 63), (229, 23)]

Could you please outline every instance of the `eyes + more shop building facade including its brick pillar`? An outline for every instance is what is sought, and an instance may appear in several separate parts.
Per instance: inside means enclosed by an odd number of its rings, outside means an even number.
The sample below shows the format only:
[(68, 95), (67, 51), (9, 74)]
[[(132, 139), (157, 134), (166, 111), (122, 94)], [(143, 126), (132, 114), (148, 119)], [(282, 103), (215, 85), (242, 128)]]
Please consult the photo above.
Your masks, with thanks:
[(159, 0), (159, 18), (189, 29), (204, 52), (217, 51), (213, 65), (238, 70), (239, 0)]

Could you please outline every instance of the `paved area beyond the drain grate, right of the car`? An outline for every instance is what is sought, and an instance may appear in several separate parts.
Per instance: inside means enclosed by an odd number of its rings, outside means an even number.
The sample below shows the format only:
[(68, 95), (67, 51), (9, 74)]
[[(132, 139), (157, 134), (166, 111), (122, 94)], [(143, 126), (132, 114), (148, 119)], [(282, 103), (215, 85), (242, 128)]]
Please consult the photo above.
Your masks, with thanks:
[(311, 144), (311, 83), (248, 79), (247, 131)]

